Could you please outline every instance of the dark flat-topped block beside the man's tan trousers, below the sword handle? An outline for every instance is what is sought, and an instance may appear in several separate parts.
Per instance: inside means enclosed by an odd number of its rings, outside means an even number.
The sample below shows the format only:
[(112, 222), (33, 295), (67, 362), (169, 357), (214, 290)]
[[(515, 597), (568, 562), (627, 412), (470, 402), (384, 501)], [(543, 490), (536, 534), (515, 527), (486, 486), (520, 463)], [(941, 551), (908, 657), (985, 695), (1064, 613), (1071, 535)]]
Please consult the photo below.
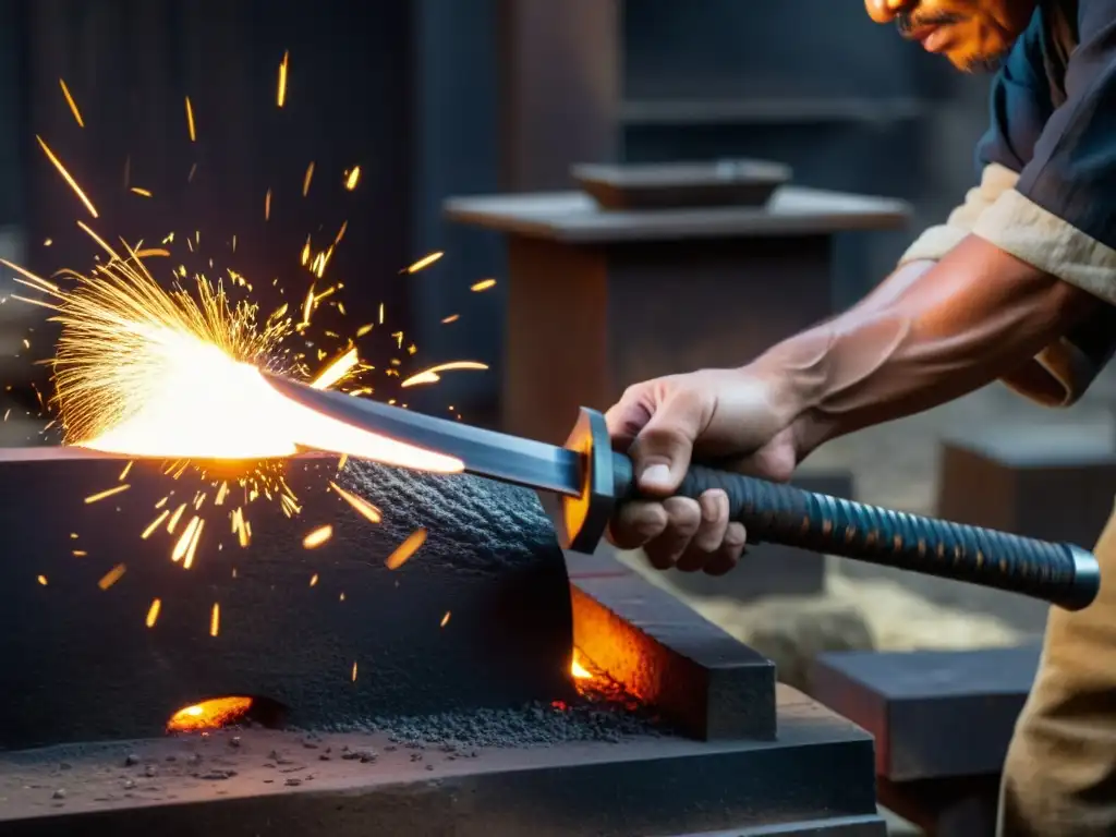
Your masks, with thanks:
[(891, 782), (998, 775), (1038, 657), (1037, 646), (834, 652), (815, 662), (809, 691), (875, 737)]

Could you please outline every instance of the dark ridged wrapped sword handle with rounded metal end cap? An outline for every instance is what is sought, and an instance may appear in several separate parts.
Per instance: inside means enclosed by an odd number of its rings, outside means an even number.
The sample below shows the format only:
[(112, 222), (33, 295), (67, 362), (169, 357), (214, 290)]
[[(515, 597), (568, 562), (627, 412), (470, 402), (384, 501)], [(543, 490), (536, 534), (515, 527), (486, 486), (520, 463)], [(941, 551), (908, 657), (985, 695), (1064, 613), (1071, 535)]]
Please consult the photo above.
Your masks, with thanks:
[(1070, 543), (906, 514), (695, 465), (679, 494), (729, 496), (751, 542), (771, 542), (1087, 607), (1100, 587), (1096, 557)]

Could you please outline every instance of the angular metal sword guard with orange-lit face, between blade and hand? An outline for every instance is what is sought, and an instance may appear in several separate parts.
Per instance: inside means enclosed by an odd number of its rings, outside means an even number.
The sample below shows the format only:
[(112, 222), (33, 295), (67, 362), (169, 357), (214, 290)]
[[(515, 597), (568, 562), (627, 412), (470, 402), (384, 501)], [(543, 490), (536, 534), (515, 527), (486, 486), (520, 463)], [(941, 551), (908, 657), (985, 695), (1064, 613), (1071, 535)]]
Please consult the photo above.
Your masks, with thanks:
[[(604, 414), (588, 407), (580, 408), (562, 446), (581, 460), (581, 493), (561, 498), (555, 525), (558, 542), (562, 549), (591, 555), (608, 528), (618, 496), (626, 492), (623, 475), (616, 473), (616, 460), (627, 462), (627, 458), (615, 456)], [(628, 462), (628, 471), (631, 468)]]

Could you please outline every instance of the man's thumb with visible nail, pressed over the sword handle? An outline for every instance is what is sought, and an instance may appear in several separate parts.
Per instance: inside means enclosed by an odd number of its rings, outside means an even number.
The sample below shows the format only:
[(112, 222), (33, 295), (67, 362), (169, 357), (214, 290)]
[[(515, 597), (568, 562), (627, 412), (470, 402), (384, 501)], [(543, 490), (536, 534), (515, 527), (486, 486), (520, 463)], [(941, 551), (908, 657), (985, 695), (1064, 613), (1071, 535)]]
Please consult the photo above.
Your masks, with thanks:
[(628, 451), (642, 492), (670, 497), (677, 490), (690, 466), (699, 422), (700, 412), (682, 398), (670, 400), (655, 411)]

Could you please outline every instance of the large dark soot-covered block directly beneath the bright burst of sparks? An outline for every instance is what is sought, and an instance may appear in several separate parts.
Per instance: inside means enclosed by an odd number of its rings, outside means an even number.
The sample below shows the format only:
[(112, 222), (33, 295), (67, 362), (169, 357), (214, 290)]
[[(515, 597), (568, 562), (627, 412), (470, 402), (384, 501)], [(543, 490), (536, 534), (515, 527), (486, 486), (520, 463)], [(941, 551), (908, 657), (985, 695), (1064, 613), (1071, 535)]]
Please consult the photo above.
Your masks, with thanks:
[[(140, 463), (126, 491), (84, 502), (122, 484), (122, 466), (0, 463), (0, 749), (157, 734), (176, 709), (228, 694), (279, 701), (304, 727), (570, 696), (568, 579), (532, 492), (355, 462), (338, 475), (336, 460), (319, 458), (287, 464), (295, 519), (263, 499), (246, 506), (237, 488), (214, 507), (192, 471), (173, 480)], [(375, 503), (383, 522), (355, 513), (330, 480)], [(194, 512), (199, 490), (208, 498)], [(187, 503), (176, 533), (141, 539), (171, 491), (164, 509)], [(240, 506), (248, 548), (229, 521)], [(206, 522), (184, 569), (171, 552), (193, 513)], [(331, 539), (304, 548), (324, 525)], [(387, 569), (420, 527), (426, 542)]]

